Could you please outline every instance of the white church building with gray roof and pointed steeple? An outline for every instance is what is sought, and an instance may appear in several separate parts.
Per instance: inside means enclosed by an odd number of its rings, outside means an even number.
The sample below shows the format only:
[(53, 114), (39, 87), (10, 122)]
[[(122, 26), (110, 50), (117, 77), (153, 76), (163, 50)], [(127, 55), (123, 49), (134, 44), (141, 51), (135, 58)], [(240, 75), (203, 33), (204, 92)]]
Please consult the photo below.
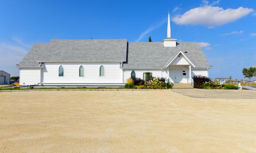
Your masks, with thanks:
[(208, 77), (209, 63), (197, 42), (128, 42), (126, 39), (59, 40), (35, 43), (19, 68), (20, 85), (124, 86), (143, 73), (172, 83), (193, 83), (193, 75)]

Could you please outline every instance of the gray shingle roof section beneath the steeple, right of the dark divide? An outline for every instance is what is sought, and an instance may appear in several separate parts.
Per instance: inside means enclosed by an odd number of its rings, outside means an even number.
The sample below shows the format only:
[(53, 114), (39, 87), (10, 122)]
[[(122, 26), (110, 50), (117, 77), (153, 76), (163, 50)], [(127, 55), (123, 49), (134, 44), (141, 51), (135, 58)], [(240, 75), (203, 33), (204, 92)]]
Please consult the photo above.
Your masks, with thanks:
[(179, 42), (177, 47), (164, 47), (163, 42), (129, 42), (128, 44), (128, 60), (123, 64), (124, 68), (163, 68), (180, 51), (196, 67), (210, 67), (197, 42)]

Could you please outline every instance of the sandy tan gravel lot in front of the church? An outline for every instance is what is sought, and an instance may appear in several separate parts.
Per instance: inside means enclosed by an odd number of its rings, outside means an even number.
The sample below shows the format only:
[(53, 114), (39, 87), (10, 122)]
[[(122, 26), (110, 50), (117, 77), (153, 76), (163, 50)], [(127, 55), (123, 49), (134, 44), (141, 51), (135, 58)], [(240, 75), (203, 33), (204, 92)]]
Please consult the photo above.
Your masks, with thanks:
[(255, 152), (256, 99), (0, 92), (1, 152)]

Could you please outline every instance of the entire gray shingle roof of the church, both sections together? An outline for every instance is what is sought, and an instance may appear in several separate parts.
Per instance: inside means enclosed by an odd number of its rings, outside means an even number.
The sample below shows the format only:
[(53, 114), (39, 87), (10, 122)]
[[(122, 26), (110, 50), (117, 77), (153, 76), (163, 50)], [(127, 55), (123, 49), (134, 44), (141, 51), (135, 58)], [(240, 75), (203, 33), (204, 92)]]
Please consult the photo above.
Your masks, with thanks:
[(51, 40), (49, 43), (35, 43), (18, 66), (39, 67), (39, 61), (127, 60), (123, 64), (124, 68), (163, 68), (180, 50), (188, 52), (184, 54), (196, 67), (210, 67), (197, 42), (180, 42), (177, 47), (164, 47), (163, 42), (127, 43), (126, 39)]

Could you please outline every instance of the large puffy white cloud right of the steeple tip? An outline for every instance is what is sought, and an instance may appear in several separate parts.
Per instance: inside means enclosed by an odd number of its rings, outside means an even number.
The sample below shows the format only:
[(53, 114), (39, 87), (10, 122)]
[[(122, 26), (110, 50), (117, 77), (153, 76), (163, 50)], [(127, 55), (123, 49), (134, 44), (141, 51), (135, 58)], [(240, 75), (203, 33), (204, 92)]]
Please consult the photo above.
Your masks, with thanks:
[(175, 16), (173, 21), (180, 25), (205, 25), (208, 28), (212, 28), (236, 21), (254, 11), (253, 9), (243, 7), (224, 10), (221, 7), (208, 5), (207, 2), (203, 1), (204, 6), (190, 9), (183, 15)]

